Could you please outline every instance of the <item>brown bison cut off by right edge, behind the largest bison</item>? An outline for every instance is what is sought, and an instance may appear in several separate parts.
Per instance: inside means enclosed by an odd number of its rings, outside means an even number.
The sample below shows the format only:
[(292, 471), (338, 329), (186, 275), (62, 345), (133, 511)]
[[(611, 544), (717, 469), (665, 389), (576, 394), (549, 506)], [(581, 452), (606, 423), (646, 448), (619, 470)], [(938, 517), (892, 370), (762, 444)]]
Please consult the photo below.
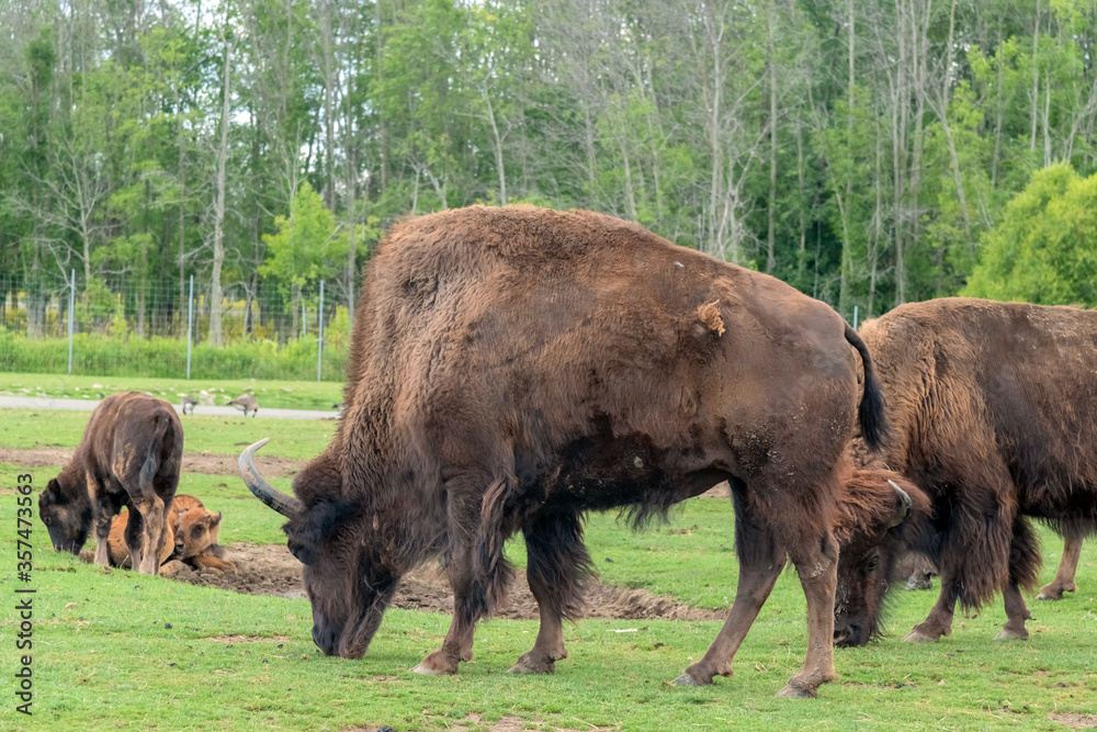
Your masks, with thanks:
[(886, 397), (881, 458), (928, 504), (842, 548), (837, 642), (878, 632), (887, 574), (905, 549), (941, 574), (940, 598), (905, 640), (948, 635), (958, 600), (977, 608), (999, 590), (998, 638), (1027, 638), (1020, 588), (1034, 586), (1040, 555), (1026, 517), (1067, 538), (1044, 597), (1074, 588), (1082, 537), (1097, 529), (1097, 313), (943, 299), (869, 320), (861, 337)]

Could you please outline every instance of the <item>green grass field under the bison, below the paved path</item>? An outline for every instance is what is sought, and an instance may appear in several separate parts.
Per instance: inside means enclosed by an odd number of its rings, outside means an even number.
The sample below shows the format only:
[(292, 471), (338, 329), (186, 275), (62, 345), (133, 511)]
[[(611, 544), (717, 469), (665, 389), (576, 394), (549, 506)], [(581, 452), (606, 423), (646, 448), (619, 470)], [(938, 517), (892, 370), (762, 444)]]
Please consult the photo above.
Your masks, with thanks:
[[(30, 447), (48, 440), (72, 446), (82, 431), (81, 419), (87, 415), (30, 417), (4, 410), (0, 430), (8, 431), (0, 431), (0, 444)], [(252, 439), (239, 433), (242, 419), (220, 421), (184, 423), (188, 451), (230, 453), (239, 449), (235, 442)], [(296, 423), (263, 452), (315, 455), (332, 426)], [(317, 429), (309, 431), (313, 427)], [(24, 438), (26, 433), (34, 436)], [(841, 678), (822, 687), (816, 700), (773, 697), (799, 669), (805, 651), (804, 599), (792, 572), (782, 574), (747, 637), (735, 676), (709, 687), (676, 688), (667, 682), (704, 653), (719, 631), (716, 622), (584, 620), (565, 628), (569, 657), (557, 663), (554, 676), (516, 677), (505, 672), (532, 645), (536, 623), (493, 620), (478, 627), (476, 657), (460, 674), (421, 677), (408, 669), (441, 643), (446, 616), (389, 610), (365, 657), (324, 657), (309, 635), (307, 600), (235, 595), (123, 570), (105, 574), (54, 553), (36, 509), (33, 582), (23, 585), (15, 566), (19, 472), (18, 465), (0, 464), (0, 526), (5, 527), (0, 547), (7, 558), (0, 564), (3, 730), (341, 731), (387, 724), (403, 732), (490, 730), (504, 718), (529, 729), (657, 732), (1065, 730), (1055, 719), (1097, 723), (1097, 542), (1083, 551), (1078, 593), (1060, 603), (1030, 598), (1036, 620), (1025, 642), (993, 640), (1005, 620), (995, 601), (977, 617), (959, 615), (953, 634), (940, 643), (901, 643), (935, 594), (897, 593), (887, 619), (890, 635), (866, 649), (838, 650), (835, 665)], [(30, 472), (36, 494), (56, 469)], [(287, 489), (290, 481), (272, 482)], [(234, 476), (188, 474), (180, 492), (224, 513), (224, 543), (283, 541), (281, 518)], [(603, 582), (703, 607), (726, 607), (734, 594), (730, 502), (687, 502), (670, 526), (640, 533), (615, 515), (592, 516), (587, 527)], [(1041, 536), (1041, 582), (1047, 582), (1062, 542), (1045, 530)], [(520, 542), (511, 542), (508, 554), (523, 563)], [(33, 718), (15, 712), (13, 697), (16, 586), (37, 590)], [(480, 721), (461, 721), (471, 713)]]

